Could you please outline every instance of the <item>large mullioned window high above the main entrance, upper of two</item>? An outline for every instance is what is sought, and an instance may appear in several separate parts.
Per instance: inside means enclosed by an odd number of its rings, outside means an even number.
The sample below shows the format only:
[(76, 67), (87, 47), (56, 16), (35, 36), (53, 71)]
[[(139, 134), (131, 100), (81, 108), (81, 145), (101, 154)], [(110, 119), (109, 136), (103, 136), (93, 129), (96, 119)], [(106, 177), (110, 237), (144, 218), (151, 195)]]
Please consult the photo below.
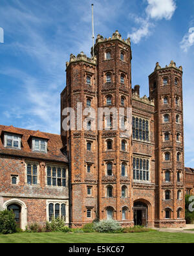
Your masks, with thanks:
[(149, 141), (149, 122), (138, 117), (132, 118), (133, 139)]

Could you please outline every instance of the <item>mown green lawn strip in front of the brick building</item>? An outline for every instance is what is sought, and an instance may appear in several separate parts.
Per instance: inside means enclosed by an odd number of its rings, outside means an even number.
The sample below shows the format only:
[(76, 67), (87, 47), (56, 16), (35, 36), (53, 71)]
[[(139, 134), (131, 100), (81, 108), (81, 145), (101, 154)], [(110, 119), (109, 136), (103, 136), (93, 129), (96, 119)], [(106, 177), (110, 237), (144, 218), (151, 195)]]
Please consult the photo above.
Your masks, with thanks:
[(149, 231), (145, 233), (14, 233), (0, 235), (0, 243), (186, 243), (194, 234)]

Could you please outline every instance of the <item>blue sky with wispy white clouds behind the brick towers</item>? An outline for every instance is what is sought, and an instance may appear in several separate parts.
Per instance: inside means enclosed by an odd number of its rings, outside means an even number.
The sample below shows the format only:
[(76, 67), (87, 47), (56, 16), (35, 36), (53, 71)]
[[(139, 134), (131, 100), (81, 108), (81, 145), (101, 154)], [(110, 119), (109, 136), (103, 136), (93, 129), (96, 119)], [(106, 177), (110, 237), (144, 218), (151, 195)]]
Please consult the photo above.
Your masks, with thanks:
[(194, 168), (194, 0), (1, 0), (0, 124), (59, 134), (65, 62), (90, 56), (92, 3), (95, 36), (131, 38), (141, 97), (156, 62), (182, 65), (185, 165)]

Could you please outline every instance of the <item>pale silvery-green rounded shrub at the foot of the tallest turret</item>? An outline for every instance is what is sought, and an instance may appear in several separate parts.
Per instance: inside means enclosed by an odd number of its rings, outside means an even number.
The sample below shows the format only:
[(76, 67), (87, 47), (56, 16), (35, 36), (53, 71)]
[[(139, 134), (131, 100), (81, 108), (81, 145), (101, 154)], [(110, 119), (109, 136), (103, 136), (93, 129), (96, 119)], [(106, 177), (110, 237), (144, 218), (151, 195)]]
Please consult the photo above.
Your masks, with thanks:
[(100, 233), (120, 233), (121, 229), (116, 220), (101, 220), (94, 223), (94, 230)]

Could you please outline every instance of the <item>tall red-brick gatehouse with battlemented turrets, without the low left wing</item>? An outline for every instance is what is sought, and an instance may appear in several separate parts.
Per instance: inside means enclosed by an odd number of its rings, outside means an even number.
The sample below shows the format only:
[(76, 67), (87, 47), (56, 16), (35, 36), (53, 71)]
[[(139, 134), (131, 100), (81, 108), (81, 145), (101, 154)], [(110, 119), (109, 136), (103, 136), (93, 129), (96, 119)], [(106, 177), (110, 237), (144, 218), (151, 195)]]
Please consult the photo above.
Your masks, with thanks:
[[(149, 98), (140, 98), (140, 87), (131, 87), (129, 39), (118, 31), (109, 39), (98, 35), (94, 55), (70, 55), (67, 87), (61, 93), (72, 226), (95, 218), (114, 218), (123, 226), (184, 226), (182, 67), (173, 61), (164, 68), (157, 63), (149, 75)], [(124, 122), (132, 109), (132, 135), (114, 130), (114, 117), (109, 130), (77, 127), (65, 132), (63, 110), (73, 108), (77, 121), (78, 102), (82, 110), (123, 108)], [(83, 120), (87, 126), (96, 121), (89, 121), (87, 111)], [(105, 122), (103, 117), (103, 127)]]

